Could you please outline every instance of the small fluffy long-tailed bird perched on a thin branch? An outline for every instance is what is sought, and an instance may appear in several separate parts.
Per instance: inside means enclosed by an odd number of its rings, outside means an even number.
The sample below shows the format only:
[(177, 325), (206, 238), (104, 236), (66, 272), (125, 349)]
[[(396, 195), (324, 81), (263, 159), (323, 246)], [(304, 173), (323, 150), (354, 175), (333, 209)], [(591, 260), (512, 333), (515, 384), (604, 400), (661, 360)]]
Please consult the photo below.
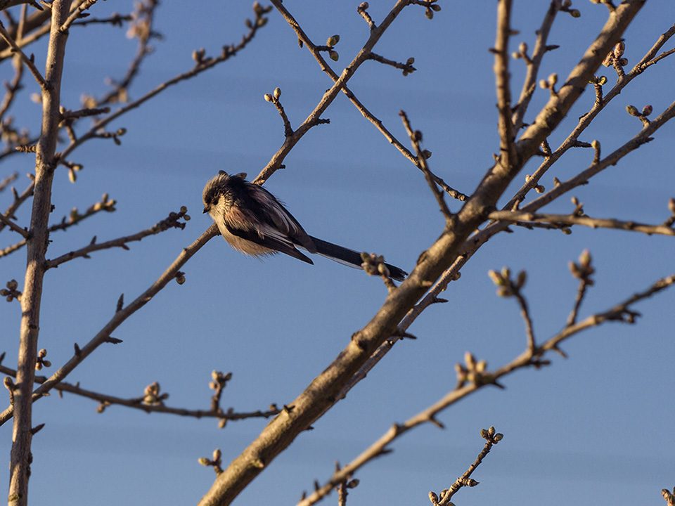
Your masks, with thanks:
[[(204, 187), (204, 212), (216, 222), (223, 238), (238, 251), (253, 257), (285, 253), (314, 264), (296, 247), (317, 253), (351, 267), (361, 268), (361, 254), (307, 235), (300, 223), (274, 195), (262, 186), (245, 180), (246, 174), (230, 176), (225, 171)], [(407, 273), (385, 264), (394, 280), (404, 280)]]

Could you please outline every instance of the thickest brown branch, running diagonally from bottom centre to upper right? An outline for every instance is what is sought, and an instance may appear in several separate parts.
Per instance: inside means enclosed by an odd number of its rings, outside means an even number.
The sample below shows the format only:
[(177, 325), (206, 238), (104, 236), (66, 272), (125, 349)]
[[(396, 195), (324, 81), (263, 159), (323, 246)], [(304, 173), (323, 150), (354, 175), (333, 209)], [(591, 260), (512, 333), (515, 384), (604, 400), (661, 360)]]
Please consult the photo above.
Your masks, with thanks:
[[(432, 287), (444, 270), (457, 259), (462, 252), (461, 247), (465, 240), (482, 223), (488, 210), (494, 208), (503, 191), (522, 168), (522, 164), (525, 164), (536, 153), (539, 144), (565, 117), (589, 82), (593, 72), (602, 63), (604, 55), (617, 43), (643, 3), (644, 0), (628, 0), (617, 8), (596, 41), (586, 51), (579, 65), (572, 70), (567, 82), (556, 96), (551, 97), (534, 124), (518, 141), (516, 148), (519, 163), (514, 167), (496, 166), (484, 176), (470, 200), (465, 203), (458, 214), (453, 216), (451, 226), (446, 228), (435, 244), (420, 257), (418, 266), (397, 290), (389, 294), (385, 304), (368, 325), (352, 336), (349, 346), (295, 399), (293, 408), (271, 420), (262, 434), (232, 462), (228, 469), (217, 476), (214, 486), (204, 496), (200, 505), (229, 504), (244, 486), (269, 465), (278, 453), (286, 448), (298, 434), (306, 430), (316, 420), (316, 417), (335, 403), (336, 396), (342, 387), (351, 380), (361, 365), (366, 363), (371, 353), (378, 349), (378, 346), (383, 344), (387, 338), (397, 333), (397, 326), (401, 319)], [(402, 0), (397, 2), (382, 25), (371, 30), (371, 34), (377, 34), (377, 38), (373, 40), (371, 35), (371, 39), (359, 52), (359, 56), (356, 56), (342, 72), (338, 82), (326, 93), (316, 110), (325, 109), (323, 104), (327, 100), (332, 100), (331, 97), (342, 88), (349, 75), (358, 66), (359, 58), (364, 58), (361, 55), (370, 51), (380, 37), (380, 28), (388, 26), (405, 4), (406, 2)], [(279, 163), (281, 163), (280, 160)], [(276, 167), (274, 160), (268, 167)], [(265, 179), (271, 171), (273, 170), (265, 169), (259, 179)]]

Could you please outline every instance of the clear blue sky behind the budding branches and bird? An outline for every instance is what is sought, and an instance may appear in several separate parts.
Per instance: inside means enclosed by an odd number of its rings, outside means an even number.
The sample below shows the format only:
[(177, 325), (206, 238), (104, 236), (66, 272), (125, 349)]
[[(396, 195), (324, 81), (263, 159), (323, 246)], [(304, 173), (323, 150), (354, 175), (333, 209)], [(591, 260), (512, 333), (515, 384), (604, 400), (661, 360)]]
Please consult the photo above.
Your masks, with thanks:
[[(96, 16), (129, 8), (127, 2), (99, 2)], [(359, 2), (287, 0), (284, 5), (316, 44), (340, 34), (340, 73), (368, 36), (356, 13)], [(371, 2), (378, 22), (392, 2)], [(350, 81), (356, 96), (401, 142), (405, 132), (398, 113), (405, 110), (413, 127), (424, 133), (432, 151), (430, 167), (454, 188), (470, 193), (499, 150), (493, 59), (494, 2), (439, 2), (433, 20), (423, 8), (406, 8), (375, 47), (386, 58), (413, 56), (418, 71), (408, 77), (391, 67), (365, 63)], [(577, 5), (578, 4), (578, 5)], [(548, 7), (544, 1), (516, 2), (511, 41), (534, 46), (534, 31)], [(541, 77), (558, 72), (561, 81), (579, 60), (607, 17), (604, 6), (576, 1), (581, 18), (560, 14)], [(190, 69), (191, 53), (205, 48), (219, 53), (237, 43), (251, 17), (247, 2), (165, 2), (155, 28), (164, 36), (143, 63), (129, 90), (139, 98), (160, 82)], [(675, 4), (653, 0), (625, 34), (626, 57), (634, 65), (675, 19)], [(672, 48), (672, 41), (664, 49)], [(79, 107), (82, 93), (101, 95), (107, 76), (124, 74), (135, 43), (124, 29), (86, 27), (71, 30), (65, 61), (63, 105)], [(44, 65), (46, 41), (30, 47)], [(11, 79), (5, 64), (2, 77)], [(524, 75), (522, 60), (512, 61), (514, 95)], [(612, 70), (603, 69), (610, 84)], [(670, 58), (650, 67), (605, 109), (582, 136), (598, 139), (603, 153), (634, 136), (641, 124), (626, 105), (651, 104), (655, 113), (674, 96), (675, 72)], [(113, 249), (78, 259), (50, 271), (45, 279), (40, 347), (49, 351), (53, 368), (108, 322), (124, 293), (131, 301), (154, 282), (183, 247), (211, 221), (201, 213), (201, 192), (217, 171), (248, 172), (255, 177), (283, 143), (283, 125), (264, 93), (281, 88), (281, 100), (297, 127), (330, 87), (306, 49), (275, 11), (250, 46), (236, 58), (174, 86), (112, 126), (124, 127), (122, 145), (89, 141), (72, 155), (82, 163), (77, 183), (60, 171), (53, 188), (54, 221), (72, 207), (83, 210), (103, 193), (117, 200), (117, 211), (95, 216), (54, 233), (49, 257), (77, 249), (96, 235), (99, 241), (140, 231), (181, 205), (192, 219), (184, 231), (167, 231), (130, 251)], [(28, 96), (37, 85), (26, 82), (13, 113), (31, 131), (39, 129), (39, 106)], [(537, 90), (526, 121), (547, 100)], [(591, 90), (551, 136), (560, 144), (589, 110)], [(443, 219), (423, 175), (387, 143), (361, 114), (340, 96), (325, 117), (285, 160), (286, 169), (266, 188), (287, 205), (311, 235), (354, 249), (384, 254), (387, 261), (411, 271), (420, 252), (442, 231)], [(662, 223), (667, 200), (675, 196), (672, 155), (674, 126), (667, 124), (655, 140), (574, 190), (587, 214)], [(408, 145), (407, 142), (404, 142)], [(567, 179), (588, 167), (589, 150), (563, 157), (553, 176)], [(506, 199), (536, 167), (533, 160), (513, 183)], [(34, 160), (15, 155), (4, 160), (1, 176), (24, 174)], [(572, 212), (569, 198), (546, 212)], [(0, 195), (2, 209), (11, 195)], [(448, 200), (452, 210), (458, 202)], [(30, 206), (17, 213), (24, 226)], [(2, 246), (15, 234), (4, 232)], [(596, 285), (581, 317), (603, 311), (657, 278), (673, 273), (672, 238), (575, 227), (558, 231), (515, 229), (493, 238), (463, 268), (462, 277), (443, 296), (448, 304), (430, 307), (410, 328), (418, 337), (394, 347), (364, 382), (319, 422), (302, 434), (237, 499), (238, 503), (274, 500), (293, 505), (314, 479), (323, 483), (335, 460), (345, 464), (383, 434), (437, 401), (454, 387), (454, 364), (465, 351), (498, 368), (525, 349), (525, 332), (515, 301), (496, 297), (489, 269), (527, 269), (525, 288), (539, 341), (564, 325), (572, 308), (576, 282), (567, 262), (588, 248), (596, 266)], [(1, 259), (1, 280), (23, 280), (25, 250)], [(290, 403), (347, 345), (386, 297), (380, 280), (317, 258), (309, 266), (290, 257), (264, 261), (243, 257), (214, 238), (182, 269), (186, 283), (171, 283), (114, 337), (123, 344), (101, 346), (68, 378), (82, 387), (120, 397), (141, 396), (160, 382), (167, 404), (207, 408), (212, 370), (233, 372), (222, 406), (249, 411), (269, 403)], [(407, 505), (427, 501), (428, 491), (447, 488), (482, 448), (479, 431), (494, 425), (505, 439), (474, 474), (480, 486), (463, 490), (456, 503), (567, 505), (597, 503), (662, 504), (660, 490), (675, 486), (675, 459), (669, 434), (673, 306), (666, 292), (637, 306), (637, 325), (608, 324), (563, 344), (567, 360), (551, 356), (551, 367), (522, 370), (503, 380), (506, 390), (483, 389), (446, 410), (439, 419), (447, 429), (420, 427), (397, 440), (394, 453), (371, 462), (356, 476), (349, 504), (373, 501)], [(20, 309), (0, 304), (6, 338), (4, 365), (15, 365)], [(96, 403), (66, 394), (35, 405), (35, 423), (46, 423), (34, 438), (30, 500), (34, 504), (98, 505), (191, 504), (211, 486), (214, 475), (198, 458), (221, 448), (224, 463), (236, 458), (259, 434), (264, 420), (231, 422), (219, 430), (213, 420), (174, 415), (146, 415), (112, 406), (96, 413)], [(2, 427), (0, 447), (11, 448), (11, 424)], [(8, 481), (7, 467), (0, 480)], [(327, 499), (334, 503), (335, 495)]]

